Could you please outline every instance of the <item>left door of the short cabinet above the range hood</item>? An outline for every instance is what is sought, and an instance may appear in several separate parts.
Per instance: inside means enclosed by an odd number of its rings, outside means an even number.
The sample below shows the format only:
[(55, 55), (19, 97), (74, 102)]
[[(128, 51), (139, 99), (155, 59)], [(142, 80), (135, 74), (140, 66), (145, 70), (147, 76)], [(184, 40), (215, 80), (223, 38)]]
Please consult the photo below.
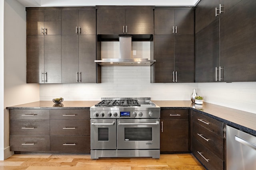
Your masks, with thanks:
[(97, 34), (123, 34), (124, 9), (98, 9)]

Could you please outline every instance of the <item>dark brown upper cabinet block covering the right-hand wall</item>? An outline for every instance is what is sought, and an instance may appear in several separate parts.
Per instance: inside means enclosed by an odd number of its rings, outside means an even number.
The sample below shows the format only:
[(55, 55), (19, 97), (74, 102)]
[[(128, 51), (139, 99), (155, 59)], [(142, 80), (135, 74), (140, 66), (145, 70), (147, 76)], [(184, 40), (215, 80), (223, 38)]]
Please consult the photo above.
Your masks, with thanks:
[[(196, 6), (196, 82), (255, 81), (254, 1), (201, 0)], [(242, 26), (241, 26), (242, 25)]]

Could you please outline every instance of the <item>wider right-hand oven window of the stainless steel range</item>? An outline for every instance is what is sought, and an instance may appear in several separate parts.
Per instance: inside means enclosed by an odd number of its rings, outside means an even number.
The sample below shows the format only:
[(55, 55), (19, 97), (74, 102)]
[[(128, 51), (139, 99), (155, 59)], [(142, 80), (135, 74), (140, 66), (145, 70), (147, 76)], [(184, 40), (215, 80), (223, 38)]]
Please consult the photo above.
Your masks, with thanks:
[(152, 141), (152, 127), (125, 127), (124, 140)]

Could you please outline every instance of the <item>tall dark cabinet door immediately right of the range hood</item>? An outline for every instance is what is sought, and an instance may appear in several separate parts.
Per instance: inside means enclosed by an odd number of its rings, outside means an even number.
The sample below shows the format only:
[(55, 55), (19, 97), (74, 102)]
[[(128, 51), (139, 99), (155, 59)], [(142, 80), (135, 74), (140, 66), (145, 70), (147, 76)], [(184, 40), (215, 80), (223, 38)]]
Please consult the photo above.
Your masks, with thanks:
[(173, 82), (174, 35), (154, 36), (154, 74), (156, 83)]

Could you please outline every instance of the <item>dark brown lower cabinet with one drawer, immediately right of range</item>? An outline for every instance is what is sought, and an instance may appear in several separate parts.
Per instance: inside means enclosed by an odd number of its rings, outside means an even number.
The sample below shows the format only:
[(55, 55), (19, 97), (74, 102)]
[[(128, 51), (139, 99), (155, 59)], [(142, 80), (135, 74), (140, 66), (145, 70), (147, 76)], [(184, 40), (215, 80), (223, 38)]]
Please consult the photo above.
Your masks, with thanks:
[(188, 109), (161, 109), (160, 114), (160, 152), (189, 152)]

